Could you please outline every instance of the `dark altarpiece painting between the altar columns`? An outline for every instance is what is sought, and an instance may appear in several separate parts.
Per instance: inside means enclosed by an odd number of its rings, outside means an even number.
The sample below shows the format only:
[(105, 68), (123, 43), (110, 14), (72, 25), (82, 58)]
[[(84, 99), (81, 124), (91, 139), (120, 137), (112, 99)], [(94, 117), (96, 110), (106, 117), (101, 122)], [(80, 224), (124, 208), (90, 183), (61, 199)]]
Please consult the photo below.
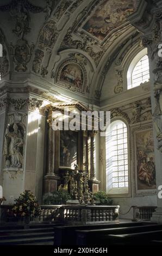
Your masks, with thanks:
[(60, 167), (74, 169), (78, 160), (78, 132), (60, 131)]

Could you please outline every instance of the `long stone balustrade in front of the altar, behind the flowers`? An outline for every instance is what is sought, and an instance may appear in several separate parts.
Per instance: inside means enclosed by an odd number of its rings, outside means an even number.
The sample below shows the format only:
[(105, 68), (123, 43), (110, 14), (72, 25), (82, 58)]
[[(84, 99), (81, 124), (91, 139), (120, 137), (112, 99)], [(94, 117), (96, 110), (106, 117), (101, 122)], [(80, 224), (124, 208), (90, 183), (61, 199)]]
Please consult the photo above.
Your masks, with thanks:
[[(11, 205), (3, 205), (3, 221), (14, 221), (14, 217), (7, 217), (7, 210), (12, 207)], [(30, 217), (30, 222), (65, 224), (119, 222), (119, 207), (119, 205), (41, 205), (40, 216), (37, 218)]]

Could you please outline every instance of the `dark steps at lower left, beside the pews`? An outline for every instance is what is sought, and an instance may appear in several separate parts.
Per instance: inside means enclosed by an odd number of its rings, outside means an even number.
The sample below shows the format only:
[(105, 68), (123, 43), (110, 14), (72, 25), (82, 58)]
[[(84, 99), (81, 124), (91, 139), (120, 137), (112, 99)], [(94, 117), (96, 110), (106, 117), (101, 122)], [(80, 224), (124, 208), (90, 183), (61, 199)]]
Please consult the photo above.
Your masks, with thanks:
[(53, 245), (55, 224), (1, 225), (1, 245)]

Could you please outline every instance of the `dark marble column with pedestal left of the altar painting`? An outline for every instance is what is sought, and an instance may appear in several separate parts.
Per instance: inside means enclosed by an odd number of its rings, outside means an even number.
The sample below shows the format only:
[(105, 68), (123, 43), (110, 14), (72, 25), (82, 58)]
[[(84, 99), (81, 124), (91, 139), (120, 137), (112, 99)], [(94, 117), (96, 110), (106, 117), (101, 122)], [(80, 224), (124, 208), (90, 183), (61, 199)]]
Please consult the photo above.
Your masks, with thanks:
[(52, 129), (52, 120), (48, 119), (48, 168), (44, 177), (44, 193), (57, 191), (57, 182), (60, 177), (54, 173), (55, 169), (55, 132)]

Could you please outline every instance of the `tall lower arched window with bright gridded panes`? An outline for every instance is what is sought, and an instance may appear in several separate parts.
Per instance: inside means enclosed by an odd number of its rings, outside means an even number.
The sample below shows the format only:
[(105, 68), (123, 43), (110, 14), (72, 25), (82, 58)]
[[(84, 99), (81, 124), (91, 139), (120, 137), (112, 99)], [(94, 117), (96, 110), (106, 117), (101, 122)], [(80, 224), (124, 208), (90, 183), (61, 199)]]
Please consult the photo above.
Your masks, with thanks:
[(107, 192), (128, 193), (128, 131), (121, 120), (113, 121), (106, 137)]

